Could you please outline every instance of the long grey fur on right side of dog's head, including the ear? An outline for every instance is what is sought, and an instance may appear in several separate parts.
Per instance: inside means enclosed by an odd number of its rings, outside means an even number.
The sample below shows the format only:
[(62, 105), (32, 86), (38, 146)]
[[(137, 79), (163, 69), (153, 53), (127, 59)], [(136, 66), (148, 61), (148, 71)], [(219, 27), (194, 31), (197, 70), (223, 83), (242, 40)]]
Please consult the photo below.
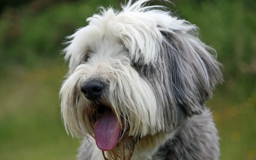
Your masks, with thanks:
[(216, 83), (222, 82), (222, 74), (220, 63), (209, 54), (214, 50), (197, 37), (180, 31), (178, 36), (162, 34), (165, 40), (156, 63), (137, 61), (133, 66), (152, 85), (158, 104), (165, 108), (163, 120), (168, 125), (162, 131), (174, 132), (187, 117), (203, 112)]

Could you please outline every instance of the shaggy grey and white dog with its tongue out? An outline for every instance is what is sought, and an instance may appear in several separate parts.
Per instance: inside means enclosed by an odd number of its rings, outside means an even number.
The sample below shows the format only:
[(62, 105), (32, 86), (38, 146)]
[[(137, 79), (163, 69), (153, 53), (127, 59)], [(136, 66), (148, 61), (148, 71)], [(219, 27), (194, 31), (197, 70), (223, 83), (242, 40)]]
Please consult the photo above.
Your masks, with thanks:
[(78, 160), (218, 160), (206, 102), (222, 83), (198, 27), (150, 0), (101, 8), (68, 36), (60, 88)]

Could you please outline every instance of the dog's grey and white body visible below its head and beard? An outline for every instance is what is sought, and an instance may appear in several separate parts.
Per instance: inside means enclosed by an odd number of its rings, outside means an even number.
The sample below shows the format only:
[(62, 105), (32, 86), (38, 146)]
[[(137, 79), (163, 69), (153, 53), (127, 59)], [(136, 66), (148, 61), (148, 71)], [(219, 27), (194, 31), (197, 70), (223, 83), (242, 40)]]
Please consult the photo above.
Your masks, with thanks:
[[(104, 160), (94, 139), (89, 142), (88, 139), (82, 142), (78, 160)], [(218, 132), (206, 108), (203, 114), (189, 118), (175, 134), (142, 138), (135, 145), (131, 160), (218, 160), (219, 155)]]

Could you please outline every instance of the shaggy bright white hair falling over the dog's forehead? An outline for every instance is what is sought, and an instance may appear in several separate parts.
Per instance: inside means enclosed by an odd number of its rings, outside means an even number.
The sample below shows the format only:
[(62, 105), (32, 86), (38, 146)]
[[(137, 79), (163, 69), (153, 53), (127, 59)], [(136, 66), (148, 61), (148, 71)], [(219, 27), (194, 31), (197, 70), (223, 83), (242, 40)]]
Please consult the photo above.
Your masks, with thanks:
[[(159, 46), (163, 39), (161, 30), (170, 29), (170, 24), (182, 23), (175, 17), (162, 11), (146, 13), (146, 11), (123, 10), (115, 12), (112, 8), (102, 10), (87, 19), (89, 24), (78, 29), (73, 35), (70, 44), (64, 49), (65, 59), (69, 60), (69, 68), (81, 64), (89, 51), (95, 51), (103, 46), (102, 40), (123, 44), (129, 51), (129, 57), (134, 62), (149, 64), (155, 62), (159, 53)], [(106, 47), (107, 45), (104, 45)], [(145, 47), (147, 46), (147, 47)], [(112, 53), (114, 55), (114, 53)]]

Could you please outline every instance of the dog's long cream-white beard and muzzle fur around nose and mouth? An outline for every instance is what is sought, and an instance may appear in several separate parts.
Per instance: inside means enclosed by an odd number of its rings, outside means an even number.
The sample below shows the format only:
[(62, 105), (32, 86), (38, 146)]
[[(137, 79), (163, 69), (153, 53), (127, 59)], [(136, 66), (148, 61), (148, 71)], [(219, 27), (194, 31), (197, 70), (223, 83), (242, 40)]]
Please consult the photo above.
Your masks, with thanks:
[[(78, 138), (91, 136), (97, 144), (102, 143), (95, 134), (98, 132), (95, 131), (95, 124), (104, 126), (97, 123), (102, 116), (98, 110), (99, 106), (104, 106), (115, 115), (115, 124), (120, 126), (116, 125), (114, 129), (121, 127), (121, 132), (116, 146), (114, 148), (111, 146), (111, 150), (104, 154), (107, 155), (105, 159), (129, 160), (138, 139), (148, 134), (155, 134), (157, 132), (155, 128), (161, 127), (160, 110), (156, 105), (152, 86), (130, 66), (129, 59), (122, 58), (109, 59), (107, 63), (101, 63), (96, 75), (93, 75), (95, 72), (88, 72), (92, 71), (91, 66), (79, 65), (60, 90), (63, 121), (67, 132), (72, 136)], [(97, 77), (109, 86), (107, 93), (97, 101), (86, 99), (80, 91), (80, 86), (88, 80), (88, 77)], [(108, 136), (107, 133), (104, 134)]]

